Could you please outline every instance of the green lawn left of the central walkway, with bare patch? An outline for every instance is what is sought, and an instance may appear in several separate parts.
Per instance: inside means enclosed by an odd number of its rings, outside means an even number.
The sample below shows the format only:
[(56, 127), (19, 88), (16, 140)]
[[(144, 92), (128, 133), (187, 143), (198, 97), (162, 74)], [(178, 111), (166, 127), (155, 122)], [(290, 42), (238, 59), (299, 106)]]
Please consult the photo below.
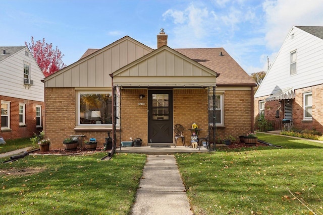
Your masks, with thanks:
[(146, 156), (105, 155), (0, 160), (0, 214), (128, 214)]

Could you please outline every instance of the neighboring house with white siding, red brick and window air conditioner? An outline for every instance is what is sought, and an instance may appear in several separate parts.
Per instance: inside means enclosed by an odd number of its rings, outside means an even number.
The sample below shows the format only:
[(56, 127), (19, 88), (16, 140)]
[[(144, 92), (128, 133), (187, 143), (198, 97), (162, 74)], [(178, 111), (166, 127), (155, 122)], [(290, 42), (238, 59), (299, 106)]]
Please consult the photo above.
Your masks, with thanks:
[(0, 136), (32, 137), (43, 127), (45, 77), (26, 46), (1, 46), (0, 51)]

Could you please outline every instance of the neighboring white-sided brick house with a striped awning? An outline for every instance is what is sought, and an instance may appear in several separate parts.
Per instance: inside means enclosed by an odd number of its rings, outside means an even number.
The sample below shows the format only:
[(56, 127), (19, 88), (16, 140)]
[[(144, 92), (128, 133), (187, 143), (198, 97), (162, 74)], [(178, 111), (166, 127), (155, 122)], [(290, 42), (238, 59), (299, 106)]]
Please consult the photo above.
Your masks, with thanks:
[(323, 27), (293, 26), (254, 96), (256, 118), (323, 132), (322, 56)]

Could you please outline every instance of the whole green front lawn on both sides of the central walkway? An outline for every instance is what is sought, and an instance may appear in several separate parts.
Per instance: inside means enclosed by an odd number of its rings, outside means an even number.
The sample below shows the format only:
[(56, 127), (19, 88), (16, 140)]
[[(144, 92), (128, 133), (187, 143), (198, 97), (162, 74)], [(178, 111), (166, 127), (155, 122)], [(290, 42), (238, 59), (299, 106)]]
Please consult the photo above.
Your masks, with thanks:
[[(283, 148), (175, 155), (195, 214), (323, 212), (323, 145), (258, 137)], [(105, 155), (0, 159), (0, 214), (129, 214), (146, 156)]]

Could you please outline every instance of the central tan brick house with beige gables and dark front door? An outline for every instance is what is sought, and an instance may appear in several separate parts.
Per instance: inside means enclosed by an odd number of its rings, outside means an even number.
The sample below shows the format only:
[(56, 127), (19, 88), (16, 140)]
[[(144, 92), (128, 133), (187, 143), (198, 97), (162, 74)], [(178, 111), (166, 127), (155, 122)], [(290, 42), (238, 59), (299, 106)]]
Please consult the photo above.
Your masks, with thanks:
[(192, 123), (205, 136), (213, 122), (208, 103), (215, 87), (216, 138), (252, 131), (251, 77), (223, 48), (172, 49), (167, 37), (161, 31), (154, 50), (125, 36), (88, 49), (47, 77), (45, 133), (51, 146), (62, 148), (64, 138), (82, 134), (102, 146), (112, 130), (117, 146), (130, 137), (141, 138), (143, 146), (173, 145), (177, 123), (186, 128), (188, 145)]

